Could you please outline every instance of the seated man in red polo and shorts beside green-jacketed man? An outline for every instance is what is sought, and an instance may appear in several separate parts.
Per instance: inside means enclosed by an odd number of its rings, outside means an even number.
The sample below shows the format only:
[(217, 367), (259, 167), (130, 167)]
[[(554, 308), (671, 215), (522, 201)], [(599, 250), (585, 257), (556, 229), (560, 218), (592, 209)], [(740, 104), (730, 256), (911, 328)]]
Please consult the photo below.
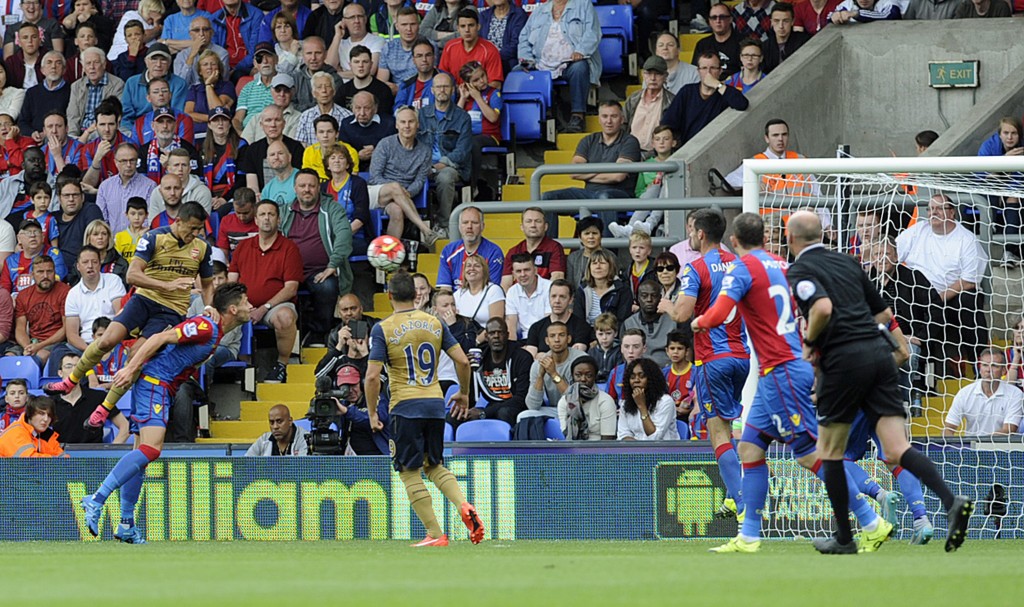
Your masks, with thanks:
[(288, 360), (295, 345), (299, 314), (295, 296), (302, 281), (302, 255), (298, 246), (279, 231), (278, 205), (263, 200), (256, 205), (255, 239), (246, 239), (231, 256), (229, 281), (251, 285), (252, 321), (273, 329), (278, 340), (278, 362), (263, 381), (280, 384), (288, 380)]

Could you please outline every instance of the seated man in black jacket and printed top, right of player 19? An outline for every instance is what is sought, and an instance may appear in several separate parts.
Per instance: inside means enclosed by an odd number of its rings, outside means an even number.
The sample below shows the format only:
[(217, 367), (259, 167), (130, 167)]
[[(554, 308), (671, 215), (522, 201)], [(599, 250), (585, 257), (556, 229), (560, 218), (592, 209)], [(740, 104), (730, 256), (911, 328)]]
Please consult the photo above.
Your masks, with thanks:
[(508, 324), (496, 316), (484, 328), (487, 341), (482, 350), (470, 350), (473, 368), (473, 396), (484, 406), (452, 409), (447, 423), (458, 428), (472, 420), (501, 420), (515, 425), (516, 417), (526, 410), (529, 367), (534, 357), (523, 348), (509, 348)]

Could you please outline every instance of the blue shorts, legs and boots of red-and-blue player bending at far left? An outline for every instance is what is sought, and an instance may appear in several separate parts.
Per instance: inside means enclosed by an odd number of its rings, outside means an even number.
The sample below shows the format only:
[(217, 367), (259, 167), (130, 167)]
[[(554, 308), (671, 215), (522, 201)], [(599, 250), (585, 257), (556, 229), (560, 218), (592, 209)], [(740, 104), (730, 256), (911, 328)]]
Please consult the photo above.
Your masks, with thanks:
[(142, 489), (145, 468), (160, 457), (167, 434), (168, 414), (173, 397), (164, 384), (148, 381), (135, 382), (132, 391), (132, 431), (137, 434), (137, 448), (114, 466), (103, 482), (91, 495), (82, 498), (85, 522), (89, 532), (99, 535), (99, 518), (103, 504), (116, 489), (121, 489), (121, 522), (114, 537), (126, 544), (145, 544), (145, 538), (135, 526), (135, 505)]

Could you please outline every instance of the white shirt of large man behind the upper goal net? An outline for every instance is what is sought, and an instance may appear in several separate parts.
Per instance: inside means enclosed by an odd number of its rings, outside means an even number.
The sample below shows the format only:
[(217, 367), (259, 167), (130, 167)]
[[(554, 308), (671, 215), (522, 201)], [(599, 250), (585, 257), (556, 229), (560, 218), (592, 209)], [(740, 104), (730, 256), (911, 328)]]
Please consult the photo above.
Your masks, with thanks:
[(956, 280), (978, 285), (985, 275), (988, 254), (969, 229), (956, 224), (947, 234), (937, 234), (928, 220), (920, 221), (896, 236), (900, 263), (921, 270), (939, 292)]

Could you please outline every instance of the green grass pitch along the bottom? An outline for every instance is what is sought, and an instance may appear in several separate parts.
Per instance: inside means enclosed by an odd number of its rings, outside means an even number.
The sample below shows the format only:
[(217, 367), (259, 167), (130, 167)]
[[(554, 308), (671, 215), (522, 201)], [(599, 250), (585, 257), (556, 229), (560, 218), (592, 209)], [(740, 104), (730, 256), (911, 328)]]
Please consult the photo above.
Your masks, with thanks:
[(809, 541), (3, 543), (2, 605), (1019, 605), (1024, 540), (946, 554), (890, 541), (824, 557)]

